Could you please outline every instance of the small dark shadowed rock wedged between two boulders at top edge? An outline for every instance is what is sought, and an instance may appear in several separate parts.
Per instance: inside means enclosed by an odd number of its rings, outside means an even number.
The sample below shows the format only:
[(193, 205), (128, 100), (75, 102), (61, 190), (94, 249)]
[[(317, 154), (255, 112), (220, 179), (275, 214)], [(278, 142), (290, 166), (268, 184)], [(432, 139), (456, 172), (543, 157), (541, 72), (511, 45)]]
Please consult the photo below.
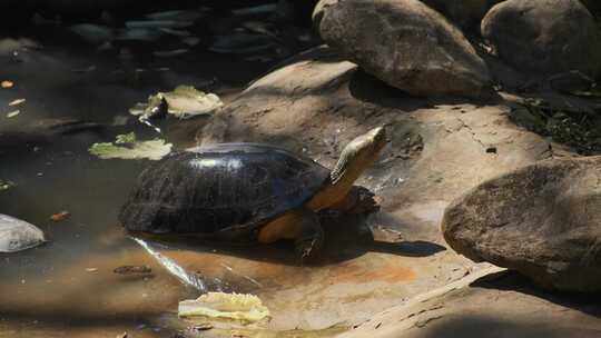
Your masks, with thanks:
[(422, 0), (464, 30), (477, 28), (486, 12), (502, 0)]

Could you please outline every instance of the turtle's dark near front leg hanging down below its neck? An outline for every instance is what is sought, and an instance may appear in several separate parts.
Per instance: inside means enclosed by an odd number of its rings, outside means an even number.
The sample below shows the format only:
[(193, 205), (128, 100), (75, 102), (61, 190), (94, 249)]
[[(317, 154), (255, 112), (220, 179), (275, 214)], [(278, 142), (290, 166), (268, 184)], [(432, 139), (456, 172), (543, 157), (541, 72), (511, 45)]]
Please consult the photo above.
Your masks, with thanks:
[(324, 229), (317, 215), (311, 210), (300, 211), (299, 231), (295, 238), (295, 251), (300, 261), (315, 257), (324, 245)]

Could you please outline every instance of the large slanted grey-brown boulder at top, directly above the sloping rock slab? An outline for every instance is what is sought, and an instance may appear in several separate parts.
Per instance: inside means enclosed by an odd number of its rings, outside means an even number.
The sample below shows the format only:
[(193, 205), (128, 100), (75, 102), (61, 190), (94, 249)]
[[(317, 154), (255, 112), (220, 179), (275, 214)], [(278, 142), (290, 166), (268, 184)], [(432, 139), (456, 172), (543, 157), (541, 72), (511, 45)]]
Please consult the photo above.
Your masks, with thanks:
[(329, 46), (411, 95), (491, 93), (486, 64), (463, 33), (417, 0), (323, 0), (314, 18)]

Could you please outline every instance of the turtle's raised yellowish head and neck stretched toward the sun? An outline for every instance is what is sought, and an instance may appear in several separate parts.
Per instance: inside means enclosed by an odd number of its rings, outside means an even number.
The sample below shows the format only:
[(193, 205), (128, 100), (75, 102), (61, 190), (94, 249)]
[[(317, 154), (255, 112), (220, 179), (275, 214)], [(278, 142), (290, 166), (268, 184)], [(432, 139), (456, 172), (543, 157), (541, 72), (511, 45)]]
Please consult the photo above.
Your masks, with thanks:
[(377, 127), (353, 139), (341, 153), (332, 170), (332, 182), (345, 180), (351, 185), (370, 167), (386, 146), (386, 130)]

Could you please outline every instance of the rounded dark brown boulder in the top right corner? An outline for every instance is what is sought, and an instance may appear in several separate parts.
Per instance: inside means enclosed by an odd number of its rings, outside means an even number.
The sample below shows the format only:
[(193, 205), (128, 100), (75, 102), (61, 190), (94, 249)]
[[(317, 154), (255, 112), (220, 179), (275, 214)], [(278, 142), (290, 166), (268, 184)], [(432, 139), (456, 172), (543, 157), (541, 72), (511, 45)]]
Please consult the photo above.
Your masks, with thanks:
[(601, 69), (601, 36), (578, 0), (508, 0), (482, 20), (482, 36), (501, 59), (545, 76)]

